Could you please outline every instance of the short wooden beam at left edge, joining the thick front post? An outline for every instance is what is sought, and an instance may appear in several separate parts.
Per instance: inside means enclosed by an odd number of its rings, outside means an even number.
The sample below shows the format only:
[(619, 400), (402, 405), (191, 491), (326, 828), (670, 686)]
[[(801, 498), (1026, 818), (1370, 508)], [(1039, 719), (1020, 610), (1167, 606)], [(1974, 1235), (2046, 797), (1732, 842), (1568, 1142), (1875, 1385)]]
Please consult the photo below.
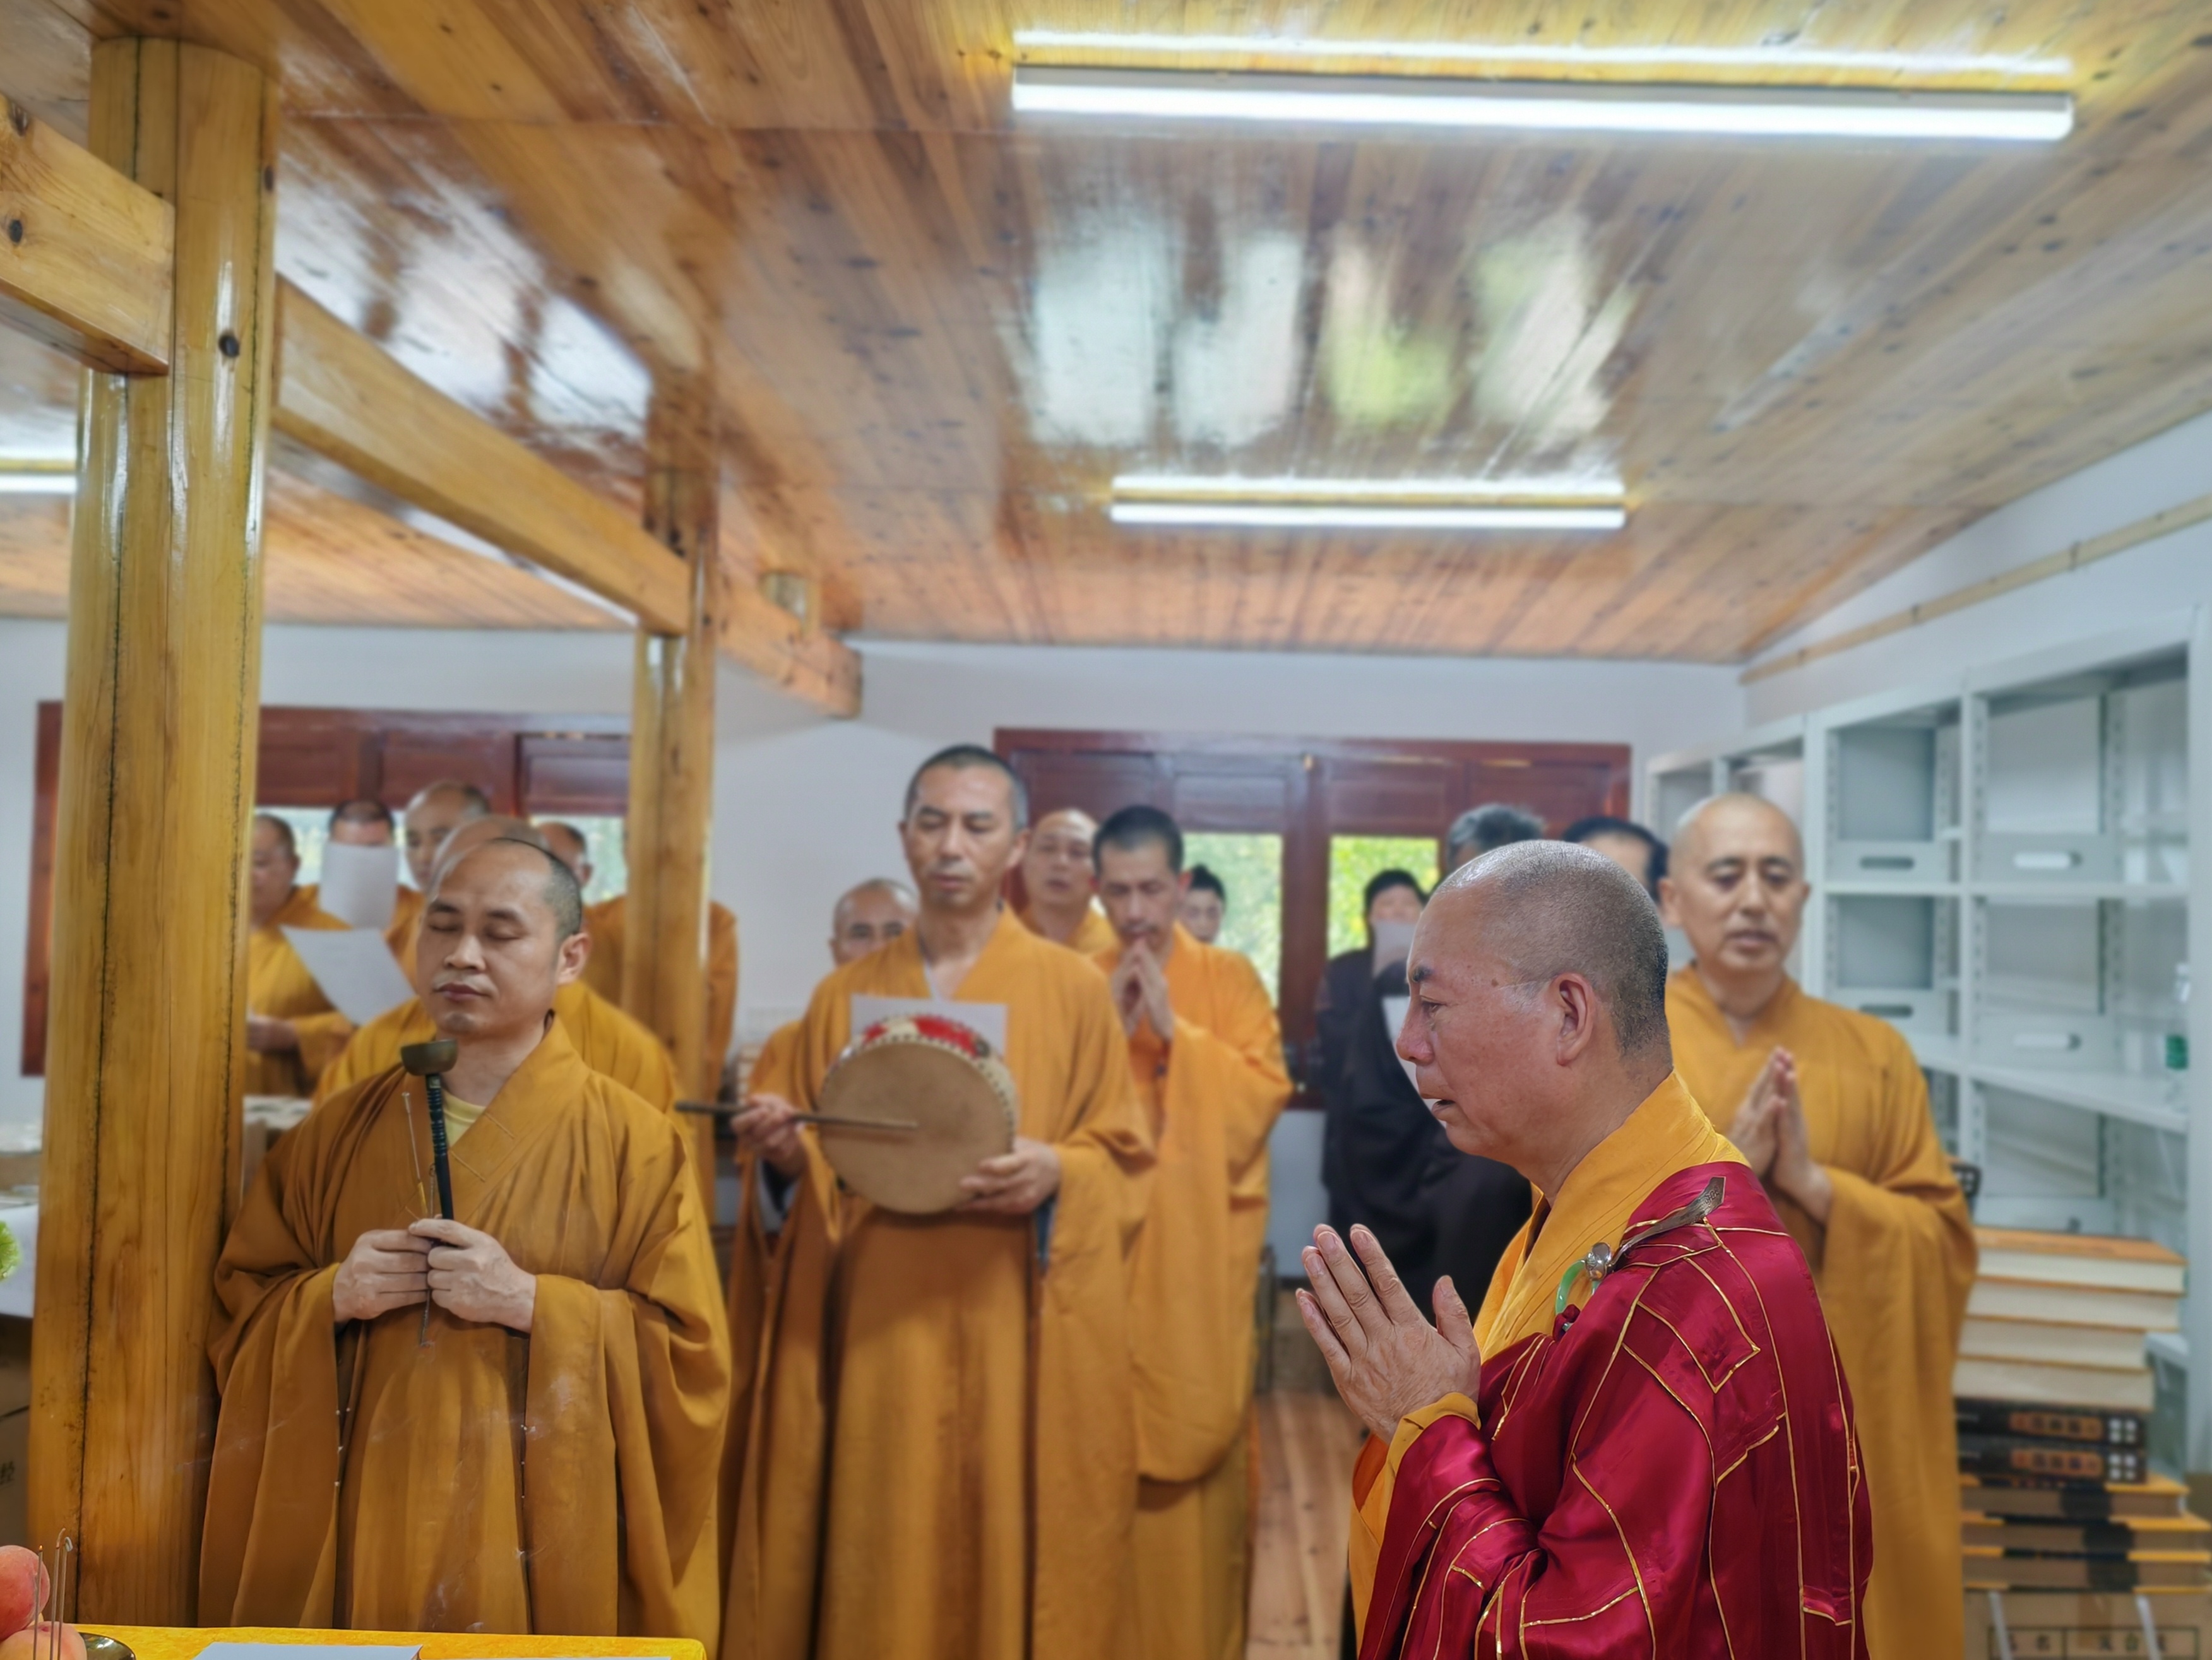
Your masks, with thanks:
[(13, 99), (0, 122), (0, 323), (86, 369), (168, 369), (177, 214)]

